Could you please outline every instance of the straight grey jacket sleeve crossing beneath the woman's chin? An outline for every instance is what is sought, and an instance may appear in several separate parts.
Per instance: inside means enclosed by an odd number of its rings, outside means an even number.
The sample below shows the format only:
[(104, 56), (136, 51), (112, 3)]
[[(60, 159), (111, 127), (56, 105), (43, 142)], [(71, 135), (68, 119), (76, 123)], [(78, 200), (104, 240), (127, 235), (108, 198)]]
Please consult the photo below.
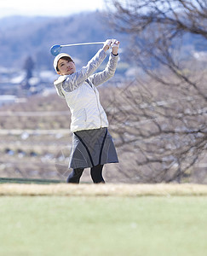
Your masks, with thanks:
[(66, 79), (62, 83), (62, 88), (67, 92), (77, 89), (78, 86), (83, 84), (83, 82), (88, 79), (92, 73), (95, 72), (95, 70), (101, 65), (105, 58), (105, 51), (100, 49), (85, 67), (82, 67), (76, 73), (72, 73), (71, 75), (66, 76)]

